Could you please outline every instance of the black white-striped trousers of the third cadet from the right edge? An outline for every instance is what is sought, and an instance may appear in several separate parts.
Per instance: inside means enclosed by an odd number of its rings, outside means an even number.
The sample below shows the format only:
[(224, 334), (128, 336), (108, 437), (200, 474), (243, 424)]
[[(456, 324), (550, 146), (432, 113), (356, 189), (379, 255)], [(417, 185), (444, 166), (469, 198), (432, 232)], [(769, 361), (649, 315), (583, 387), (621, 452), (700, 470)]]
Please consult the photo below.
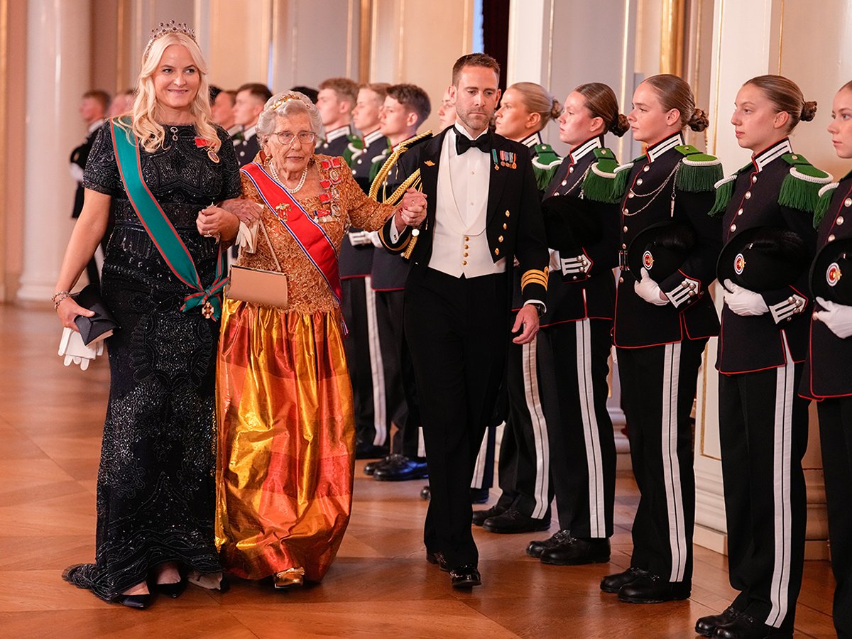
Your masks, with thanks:
[(706, 339), (618, 348), (630, 429), (630, 461), (640, 498), (630, 567), (692, 583), (695, 475), (692, 412)]

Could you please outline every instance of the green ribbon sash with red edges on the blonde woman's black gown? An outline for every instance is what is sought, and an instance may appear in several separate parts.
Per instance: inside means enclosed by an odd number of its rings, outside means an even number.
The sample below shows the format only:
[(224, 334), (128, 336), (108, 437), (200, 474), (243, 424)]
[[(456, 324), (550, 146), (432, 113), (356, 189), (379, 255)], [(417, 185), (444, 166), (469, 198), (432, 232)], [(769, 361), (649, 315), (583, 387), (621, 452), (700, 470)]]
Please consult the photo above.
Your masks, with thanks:
[[(187, 312), (193, 308), (202, 307), (206, 308), (208, 313), (211, 310), (212, 317), (218, 320), (222, 316), (221, 293), (227, 284), (227, 277), (224, 276), (222, 245), (219, 245), (219, 255), (216, 259), (216, 277), (212, 284), (204, 286), (201, 284), (198, 270), (195, 268), (195, 262), (187, 246), (183, 244), (174, 225), (165, 215), (142, 177), (139, 145), (136, 142), (135, 133), (130, 129), (130, 124), (126, 121), (118, 123), (116, 119), (112, 119), (110, 130), (118, 171), (136, 216), (139, 217), (139, 221), (145, 227), (171, 272), (193, 289), (192, 293), (183, 298), (181, 311)], [(207, 306), (208, 302), (209, 306)]]

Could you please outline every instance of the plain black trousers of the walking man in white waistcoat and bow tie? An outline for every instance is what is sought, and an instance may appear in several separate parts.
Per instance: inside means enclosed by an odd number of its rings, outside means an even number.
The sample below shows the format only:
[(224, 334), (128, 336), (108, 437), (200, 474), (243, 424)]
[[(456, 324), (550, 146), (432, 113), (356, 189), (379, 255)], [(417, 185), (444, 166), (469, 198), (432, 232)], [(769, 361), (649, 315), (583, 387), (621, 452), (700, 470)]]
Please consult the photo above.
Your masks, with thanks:
[(450, 567), (476, 564), (469, 486), (504, 373), (506, 275), (455, 278), (413, 268), (405, 294), (431, 498), (423, 541)]

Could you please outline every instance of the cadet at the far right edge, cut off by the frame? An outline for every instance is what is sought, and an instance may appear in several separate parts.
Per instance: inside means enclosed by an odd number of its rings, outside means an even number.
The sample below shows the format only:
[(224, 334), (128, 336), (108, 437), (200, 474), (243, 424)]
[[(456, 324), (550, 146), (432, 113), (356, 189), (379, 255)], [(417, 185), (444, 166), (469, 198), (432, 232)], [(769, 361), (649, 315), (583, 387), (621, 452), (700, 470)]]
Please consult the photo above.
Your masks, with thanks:
[[(838, 91), (828, 126), (838, 157), (852, 158), (852, 82)], [(822, 469), (826, 478), (828, 536), (832, 541), (834, 628), (838, 636), (852, 636), (852, 173), (837, 184), (823, 187), (816, 221), (820, 250), (811, 281), (816, 312), (805, 360), (802, 394), (812, 397), (820, 415)], [(820, 222), (821, 216), (821, 222)], [(832, 245), (845, 243), (846, 255), (831, 255)], [(838, 250), (835, 249), (835, 250)], [(848, 279), (843, 279), (845, 275)], [(823, 295), (817, 292), (821, 280)], [(826, 299), (828, 291), (843, 290), (842, 302)], [(840, 291), (838, 291), (840, 292)], [(840, 297), (839, 295), (837, 295)]]

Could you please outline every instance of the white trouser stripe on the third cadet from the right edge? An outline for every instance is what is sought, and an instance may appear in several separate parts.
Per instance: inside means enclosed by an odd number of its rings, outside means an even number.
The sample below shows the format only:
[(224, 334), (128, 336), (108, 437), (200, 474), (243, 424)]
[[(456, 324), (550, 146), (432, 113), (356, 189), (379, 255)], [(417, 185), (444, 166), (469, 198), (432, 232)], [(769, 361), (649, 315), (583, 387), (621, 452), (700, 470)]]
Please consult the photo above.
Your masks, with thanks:
[(663, 480), (669, 512), (671, 575), (669, 581), (683, 581), (687, 561), (686, 527), (683, 525), (681, 466), (677, 458), (677, 388), (681, 368), (681, 344), (666, 344), (663, 359)]

